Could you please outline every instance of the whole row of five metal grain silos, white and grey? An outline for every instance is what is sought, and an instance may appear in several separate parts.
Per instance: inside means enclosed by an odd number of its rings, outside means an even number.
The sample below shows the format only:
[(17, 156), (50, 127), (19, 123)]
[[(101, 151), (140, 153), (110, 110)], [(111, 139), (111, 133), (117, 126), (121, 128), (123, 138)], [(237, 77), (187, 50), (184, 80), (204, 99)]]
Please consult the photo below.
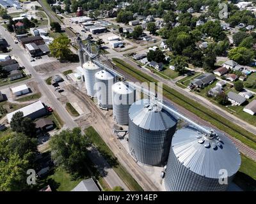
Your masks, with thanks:
[(208, 136), (191, 126), (177, 130), (177, 117), (151, 99), (136, 101), (134, 89), (112, 73), (93, 62), (83, 69), (88, 95), (97, 97), (100, 108), (113, 108), (117, 124), (129, 125), (131, 156), (148, 166), (166, 165), (166, 191), (227, 190), (241, 165), (227, 136), (218, 131)]

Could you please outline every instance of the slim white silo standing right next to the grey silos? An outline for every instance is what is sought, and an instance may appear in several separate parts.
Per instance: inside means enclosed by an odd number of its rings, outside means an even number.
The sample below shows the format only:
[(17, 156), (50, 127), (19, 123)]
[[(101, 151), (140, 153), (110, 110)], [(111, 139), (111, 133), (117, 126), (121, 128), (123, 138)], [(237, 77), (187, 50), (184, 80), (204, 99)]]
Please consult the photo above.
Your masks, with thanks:
[(135, 101), (135, 92), (124, 82), (112, 86), (113, 117), (120, 125), (129, 123), (129, 108)]

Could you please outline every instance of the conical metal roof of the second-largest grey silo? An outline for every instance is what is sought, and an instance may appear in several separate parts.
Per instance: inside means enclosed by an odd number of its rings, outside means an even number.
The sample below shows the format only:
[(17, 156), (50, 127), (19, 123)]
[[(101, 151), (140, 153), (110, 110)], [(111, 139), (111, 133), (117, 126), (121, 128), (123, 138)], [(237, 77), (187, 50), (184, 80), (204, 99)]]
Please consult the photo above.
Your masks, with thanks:
[(141, 99), (129, 108), (129, 117), (140, 128), (159, 131), (172, 128), (177, 120), (166, 110), (152, 105), (150, 100)]

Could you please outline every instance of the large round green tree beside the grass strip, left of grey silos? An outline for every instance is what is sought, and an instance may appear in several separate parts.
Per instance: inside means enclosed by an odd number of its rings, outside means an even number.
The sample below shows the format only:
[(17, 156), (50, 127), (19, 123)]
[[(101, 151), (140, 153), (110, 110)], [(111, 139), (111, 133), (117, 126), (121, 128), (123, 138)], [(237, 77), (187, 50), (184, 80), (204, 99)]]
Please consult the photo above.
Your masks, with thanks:
[(50, 140), (54, 161), (75, 176), (86, 168), (88, 145), (88, 138), (82, 135), (80, 128), (63, 130)]

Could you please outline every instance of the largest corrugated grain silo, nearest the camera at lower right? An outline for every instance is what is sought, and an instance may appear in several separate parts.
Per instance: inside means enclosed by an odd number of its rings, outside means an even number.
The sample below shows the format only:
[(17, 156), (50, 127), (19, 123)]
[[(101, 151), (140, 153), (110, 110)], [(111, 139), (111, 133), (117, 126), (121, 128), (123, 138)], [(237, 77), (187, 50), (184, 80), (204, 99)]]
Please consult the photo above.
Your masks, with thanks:
[(227, 136), (205, 136), (188, 126), (173, 136), (164, 186), (166, 191), (226, 191), (240, 165), (239, 151)]

